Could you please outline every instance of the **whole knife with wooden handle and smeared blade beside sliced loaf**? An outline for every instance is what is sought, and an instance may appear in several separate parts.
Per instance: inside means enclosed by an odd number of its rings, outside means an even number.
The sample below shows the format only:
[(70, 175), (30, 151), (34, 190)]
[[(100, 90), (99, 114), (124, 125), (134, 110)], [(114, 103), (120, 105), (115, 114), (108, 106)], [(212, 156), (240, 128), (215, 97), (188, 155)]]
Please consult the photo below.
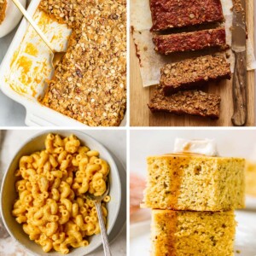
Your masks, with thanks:
[(234, 114), (232, 123), (236, 126), (247, 122), (247, 32), (245, 0), (233, 0), (232, 51), (235, 54), (233, 78)]

